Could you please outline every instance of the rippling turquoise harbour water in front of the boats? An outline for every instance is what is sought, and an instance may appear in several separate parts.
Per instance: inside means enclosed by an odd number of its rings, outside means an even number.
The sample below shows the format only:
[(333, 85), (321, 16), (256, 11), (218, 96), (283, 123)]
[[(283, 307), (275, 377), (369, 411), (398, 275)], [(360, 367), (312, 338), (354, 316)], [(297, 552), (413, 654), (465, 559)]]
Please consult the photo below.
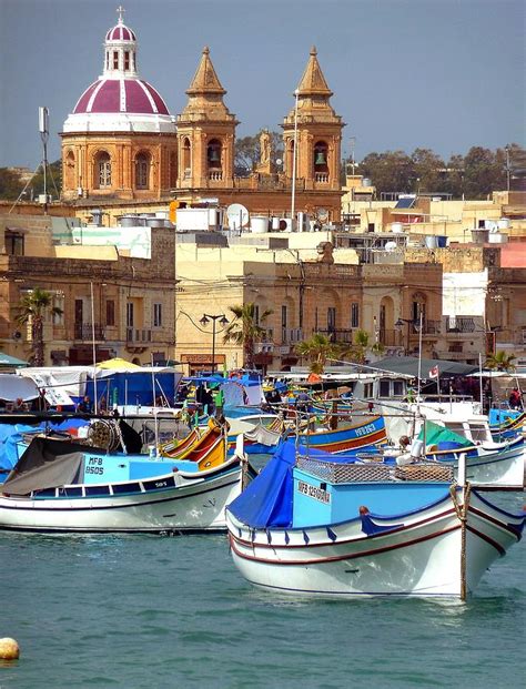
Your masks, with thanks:
[(522, 541), (465, 605), (306, 601), (246, 584), (225, 536), (0, 534), (0, 688), (515, 689), (525, 574)]

